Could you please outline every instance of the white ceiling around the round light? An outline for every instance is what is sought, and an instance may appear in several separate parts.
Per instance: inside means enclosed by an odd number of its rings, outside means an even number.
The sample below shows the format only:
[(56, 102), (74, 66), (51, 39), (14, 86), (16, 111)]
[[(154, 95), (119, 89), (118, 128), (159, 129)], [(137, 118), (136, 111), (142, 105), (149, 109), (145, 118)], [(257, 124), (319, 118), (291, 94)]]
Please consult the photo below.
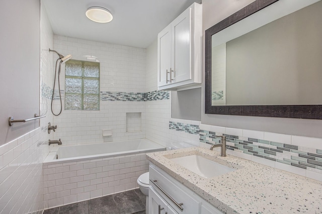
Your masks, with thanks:
[[(193, 2), (201, 0), (42, 0), (54, 34), (147, 48), (157, 33)], [(113, 14), (110, 23), (89, 20), (85, 12), (100, 6)]]

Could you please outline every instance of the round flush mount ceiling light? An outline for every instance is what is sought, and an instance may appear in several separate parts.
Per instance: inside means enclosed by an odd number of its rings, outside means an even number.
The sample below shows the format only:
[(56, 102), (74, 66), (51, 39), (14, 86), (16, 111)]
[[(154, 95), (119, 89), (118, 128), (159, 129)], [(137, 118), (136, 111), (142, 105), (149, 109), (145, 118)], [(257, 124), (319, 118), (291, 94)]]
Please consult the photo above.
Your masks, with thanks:
[(108, 23), (113, 20), (113, 16), (109, 10), (98, 6), (87, 9), (86, 16), (90, 20), (98, 23)]

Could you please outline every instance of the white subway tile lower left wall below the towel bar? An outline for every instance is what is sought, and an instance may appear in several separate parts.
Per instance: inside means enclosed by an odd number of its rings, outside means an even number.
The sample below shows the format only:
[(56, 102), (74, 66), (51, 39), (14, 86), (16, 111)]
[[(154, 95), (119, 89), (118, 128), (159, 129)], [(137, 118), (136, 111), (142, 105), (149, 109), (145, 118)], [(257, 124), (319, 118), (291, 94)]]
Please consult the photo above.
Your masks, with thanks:
[(41, 128), (0, 147), (0, 213), (42, 213), (42, 161), (47, 144)]

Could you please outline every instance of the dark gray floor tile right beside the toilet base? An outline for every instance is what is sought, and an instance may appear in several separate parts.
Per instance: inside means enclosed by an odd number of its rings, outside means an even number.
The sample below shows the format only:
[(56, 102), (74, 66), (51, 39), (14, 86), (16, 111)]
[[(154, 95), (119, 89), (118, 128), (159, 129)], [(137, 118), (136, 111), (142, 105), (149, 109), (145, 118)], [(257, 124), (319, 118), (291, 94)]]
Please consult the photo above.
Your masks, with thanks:
[(113, 197), (122, 214), (132, 214), (145, 209), (144, 203), (135, 190), (120, 192), (114, 194)]

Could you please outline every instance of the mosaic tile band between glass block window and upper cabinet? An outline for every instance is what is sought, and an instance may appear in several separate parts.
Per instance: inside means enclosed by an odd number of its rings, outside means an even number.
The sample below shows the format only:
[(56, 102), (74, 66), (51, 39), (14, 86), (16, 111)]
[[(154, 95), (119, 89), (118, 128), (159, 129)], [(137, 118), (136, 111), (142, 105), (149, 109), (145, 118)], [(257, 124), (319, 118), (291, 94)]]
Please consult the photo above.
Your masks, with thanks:
[(150, 92), (111, 92), (100, 91), (102, 101), (152, 101), (169, 99), (169, 91), (150, 91)]

